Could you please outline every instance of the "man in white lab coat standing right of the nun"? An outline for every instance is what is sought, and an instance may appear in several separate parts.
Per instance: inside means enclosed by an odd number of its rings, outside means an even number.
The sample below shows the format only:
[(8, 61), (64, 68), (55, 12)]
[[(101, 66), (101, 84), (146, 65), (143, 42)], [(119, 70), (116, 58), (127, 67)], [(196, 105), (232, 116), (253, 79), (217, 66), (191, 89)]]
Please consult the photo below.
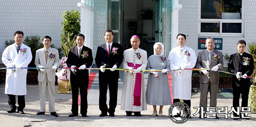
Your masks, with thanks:
[[(179, 46), (170, 51), (168, 60), (171, 70), (182, 70), (172, 72), (173, 103), (183, 100), (190, 108), (192, 70), (183, 69), (192, 69), (195, 67), (196, 55), (193, 49), (185, 45), (187, 41), (186, 35), (178, 34), (176, 41)], [(190, 116), (188, 115), (187, 117)]]

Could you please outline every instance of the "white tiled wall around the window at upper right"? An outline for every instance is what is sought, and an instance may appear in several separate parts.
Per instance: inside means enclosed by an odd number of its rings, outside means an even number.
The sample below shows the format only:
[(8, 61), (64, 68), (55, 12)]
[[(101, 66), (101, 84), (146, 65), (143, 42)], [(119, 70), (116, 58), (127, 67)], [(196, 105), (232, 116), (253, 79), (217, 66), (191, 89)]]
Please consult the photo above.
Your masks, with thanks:
[[(182, 4), (182, 8), (179, 12), (179, 33), (186, 34), (187, 43), (186, 45), (195, 50), (196, 53), (202, 50), (197, 50), (198, 38), (198, 11), (200, 0), (179, 0), (179, 4)], [(237, 52), (236, 43), (238, 40), (244, 39), (247, 43), (256, 41), (256, 1), (254, 0), (243, 0), (244, 2), (244, 37), (224, 37), (215, 36), (213, 38), (222, 38), (222, 54), (227, 53), (231, 55)], [(242, 26), (242, 27), (243, 27)], [(204, 36), (204, 38), (206, 38)], [(246, 51), (248, 52), (248, 51)], [(227, 61), (224, 60), (224, 63)], [(227, 67), (227, 64), (224, 64)]]

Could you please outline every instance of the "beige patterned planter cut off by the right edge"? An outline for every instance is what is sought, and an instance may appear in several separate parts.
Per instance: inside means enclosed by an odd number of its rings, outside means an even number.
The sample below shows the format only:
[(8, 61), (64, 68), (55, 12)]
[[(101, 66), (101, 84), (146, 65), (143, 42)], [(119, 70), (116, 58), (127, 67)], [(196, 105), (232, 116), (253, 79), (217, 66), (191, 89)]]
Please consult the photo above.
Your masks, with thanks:
[(251, 113), (256, 113), (256, 86), (253, 85), (249, 90), (248, 107), (251, 108)]

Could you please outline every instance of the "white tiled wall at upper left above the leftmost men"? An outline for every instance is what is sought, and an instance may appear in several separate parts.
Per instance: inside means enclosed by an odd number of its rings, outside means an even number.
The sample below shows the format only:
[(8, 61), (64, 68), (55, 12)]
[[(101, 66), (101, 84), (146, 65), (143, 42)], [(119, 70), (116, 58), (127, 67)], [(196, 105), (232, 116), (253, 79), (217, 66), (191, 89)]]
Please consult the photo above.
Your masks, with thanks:
[[(52, 44), (60, 47), (61, 22), (65, 10), (78, 10), (81, 0), (1, 0), (0, 2), (0, 59), (5, 41), (13, 39), (13, 33), (20, 30), (24, 37), (48, 35)], [(0, 63), (2, 61), (0, 60)]]

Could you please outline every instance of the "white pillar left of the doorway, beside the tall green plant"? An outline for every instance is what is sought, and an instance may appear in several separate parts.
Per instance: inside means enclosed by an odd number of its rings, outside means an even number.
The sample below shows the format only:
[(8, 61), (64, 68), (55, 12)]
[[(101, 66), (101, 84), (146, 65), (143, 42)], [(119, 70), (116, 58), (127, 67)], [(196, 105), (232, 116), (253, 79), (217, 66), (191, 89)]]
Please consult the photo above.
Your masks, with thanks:
[(85, 36), (84, 45), (93, 49), (94, 39), (94, 0), (81, 0), (81, 32)]

